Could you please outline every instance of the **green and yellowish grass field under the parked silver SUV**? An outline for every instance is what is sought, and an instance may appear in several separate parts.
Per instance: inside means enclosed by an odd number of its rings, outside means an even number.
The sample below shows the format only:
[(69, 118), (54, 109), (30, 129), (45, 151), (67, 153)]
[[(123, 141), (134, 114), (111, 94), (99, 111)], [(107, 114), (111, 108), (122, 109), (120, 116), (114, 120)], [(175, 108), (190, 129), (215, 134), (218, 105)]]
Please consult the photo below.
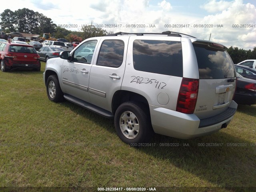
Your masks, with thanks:
[[(238, 106), (229, 126), (211, 136), (155, 135), (153, 146), (133, 148), (118, 138), (112, 119), (50, 102), (44, 66), (0, 72), (0, 187), (256, 191), (255, 105)], [(162, 146), (168, 144), (176, 146)]]

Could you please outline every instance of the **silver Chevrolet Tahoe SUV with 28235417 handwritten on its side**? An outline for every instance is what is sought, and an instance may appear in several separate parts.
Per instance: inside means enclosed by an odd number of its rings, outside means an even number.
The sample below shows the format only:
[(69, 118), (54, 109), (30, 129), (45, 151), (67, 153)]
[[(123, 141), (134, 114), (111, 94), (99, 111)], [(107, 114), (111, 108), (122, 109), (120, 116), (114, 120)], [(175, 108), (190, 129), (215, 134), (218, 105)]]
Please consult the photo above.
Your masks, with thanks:
[(106, 118), (122, 141), (152, 134), (188, 139), (226, 128), (237, 104), (226, 47), (176, 32), (116, 33), (84, 40), (48, 60), (48, 98)]

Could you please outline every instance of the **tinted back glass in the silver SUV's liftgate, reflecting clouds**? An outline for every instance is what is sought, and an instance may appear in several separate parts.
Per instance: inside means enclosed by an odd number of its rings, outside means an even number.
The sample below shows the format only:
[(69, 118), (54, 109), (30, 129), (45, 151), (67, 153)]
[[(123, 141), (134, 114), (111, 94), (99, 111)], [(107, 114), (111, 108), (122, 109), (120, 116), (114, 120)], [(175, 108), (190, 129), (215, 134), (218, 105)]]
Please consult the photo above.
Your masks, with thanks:
[(193, 44), (200, 79), (222, 79), (235, 77), (235, 69), (225, 50), (213, 49), (205, 44)]

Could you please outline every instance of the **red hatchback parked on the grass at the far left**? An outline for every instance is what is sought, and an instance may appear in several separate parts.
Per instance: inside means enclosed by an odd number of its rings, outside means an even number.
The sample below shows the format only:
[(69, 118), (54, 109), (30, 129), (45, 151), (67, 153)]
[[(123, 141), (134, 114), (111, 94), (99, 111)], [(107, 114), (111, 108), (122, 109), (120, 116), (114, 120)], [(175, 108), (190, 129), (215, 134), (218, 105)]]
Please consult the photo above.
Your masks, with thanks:
[(30, 68), (41, 70), (40, 56), (31, 45), (0, 42), (1, 71), (14, 68)]

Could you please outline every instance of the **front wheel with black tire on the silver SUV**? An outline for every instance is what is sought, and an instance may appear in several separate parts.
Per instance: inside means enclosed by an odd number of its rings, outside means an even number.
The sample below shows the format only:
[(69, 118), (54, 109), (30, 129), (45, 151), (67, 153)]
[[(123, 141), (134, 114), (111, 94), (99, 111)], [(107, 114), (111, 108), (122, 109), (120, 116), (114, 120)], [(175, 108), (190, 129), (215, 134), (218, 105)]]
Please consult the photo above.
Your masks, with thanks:
[(56, 103), (64, 101), (63, 92), (60, 88), (58, 76), (51, 75), (48, 77), (46, 82), (46, 92), (49, 100)]

